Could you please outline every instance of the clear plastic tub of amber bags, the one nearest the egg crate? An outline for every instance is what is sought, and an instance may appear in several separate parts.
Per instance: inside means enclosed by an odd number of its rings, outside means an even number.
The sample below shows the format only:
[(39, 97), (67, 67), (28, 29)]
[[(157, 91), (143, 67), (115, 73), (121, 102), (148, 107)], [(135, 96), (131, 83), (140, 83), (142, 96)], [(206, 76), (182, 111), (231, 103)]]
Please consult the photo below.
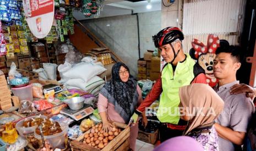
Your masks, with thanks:
[[(55, 148), (66, 149), (68, 147), (68, 135), (67, 135), (68, 126), (61, 122), (58, 122), (58, 123), (59, 125), (61, 125), (62, 132), (56, 133), (55, 135), (43, 136), (43, 138), (45, 140), (48, 140), (48, 142), (51, 144), (53, 150)], [(37, 135), (36, 132), (34, 132), (34, 135), (35, 135), (35, 138), (39, 140), (39, 146), (42, 146), (41, 135)]]

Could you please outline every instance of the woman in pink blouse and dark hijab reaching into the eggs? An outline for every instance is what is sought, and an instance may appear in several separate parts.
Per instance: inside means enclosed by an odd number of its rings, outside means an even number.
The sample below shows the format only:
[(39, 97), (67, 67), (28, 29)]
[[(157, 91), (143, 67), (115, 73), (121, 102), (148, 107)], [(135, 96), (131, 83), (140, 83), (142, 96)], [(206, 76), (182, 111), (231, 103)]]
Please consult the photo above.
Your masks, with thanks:
[[(142, 102), (141, 90), (137, 81), (130, 75), (129, 68), (122, 62), (112, 67), (112, 78), (101, 89), (97, 103), (102, 119), (102, 129), (110, 130), (111, 123), (128, 124), (135, 109)], [(130, 127), (130, 149), (135, 150), (138, 136), (138, 123)]]

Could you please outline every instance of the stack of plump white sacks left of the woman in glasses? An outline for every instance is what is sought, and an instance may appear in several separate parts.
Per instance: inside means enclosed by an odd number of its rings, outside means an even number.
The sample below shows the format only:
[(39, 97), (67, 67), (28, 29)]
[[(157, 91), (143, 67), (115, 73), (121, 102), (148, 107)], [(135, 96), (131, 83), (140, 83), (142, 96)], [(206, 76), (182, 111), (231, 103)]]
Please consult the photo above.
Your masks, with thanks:
[(90, 57), (84, 57), (81, 63), (72, 66), (65, 62), (58, 66), (61, 83), (67, 89), (81, 89), (97, 97), (105, 80), (97, 75), (106, 71), (101, 62), (95, 62)]

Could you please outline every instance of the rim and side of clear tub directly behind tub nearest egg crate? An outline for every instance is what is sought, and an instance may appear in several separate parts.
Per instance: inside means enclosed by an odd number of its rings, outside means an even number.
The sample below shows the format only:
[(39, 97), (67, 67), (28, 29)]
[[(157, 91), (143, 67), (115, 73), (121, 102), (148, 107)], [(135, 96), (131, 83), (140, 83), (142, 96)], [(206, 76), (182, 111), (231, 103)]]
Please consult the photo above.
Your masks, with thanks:
[[(25, 118), (25, 119), (29, 120), (31, 118), (36, 118), (36, 117), (39, 117), (39, 115), (28, 117), (28, 118)], [(43, 119), (47, 119), (47, 117), (44, 116), (44, 115), (40, 115), (40, 117), (43, 118)], [(24, 122), (25, 119), (22, 119), (22, 120), (18, 121), (18, 123), (15, 125), (16, 130), (19, 132), (19, 135), (23, 136), (23, 137), (26, 137), (26, 135), (28, 135), (30, 133), (34, 133), (35, 129), (37, 127), (37, 126), (23, 127), (23, 122)]]

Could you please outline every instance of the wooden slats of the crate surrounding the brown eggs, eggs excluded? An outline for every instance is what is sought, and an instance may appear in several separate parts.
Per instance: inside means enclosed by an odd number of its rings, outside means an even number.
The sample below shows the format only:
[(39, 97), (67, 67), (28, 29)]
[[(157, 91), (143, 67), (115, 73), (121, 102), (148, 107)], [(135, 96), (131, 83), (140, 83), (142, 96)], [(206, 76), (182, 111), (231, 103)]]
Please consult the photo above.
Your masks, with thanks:
[[(117, 135), (112, 141), (110, 141), (106, 147), (101, 149), (101, 151), (110, 151), (110, 150), (118, 150), (118, 151), (124, 151), (129, 149), (129, 136), (130, 136), (130, 127), (127, 126), (126, 124), (122, 123), (117, 123), (114, 122), (112, 123), (113, 125), (116, 125), (118, 128), (123, 129), (119, 135)], [(90, 133), (90, 130), (86, 131), (83, 133), (83, 135), (79, 136), (77, 140), (74, 140), (70, 142), (71, 149), (73, 151), (78, 151), (78, 150), (95, 150), (99, 151), (100, 149), (94, 148), (92, 146), (89, 146), (88, 144), (84, 144), (81, 142), (84, 140), (84, 135), (86, 133)]]

